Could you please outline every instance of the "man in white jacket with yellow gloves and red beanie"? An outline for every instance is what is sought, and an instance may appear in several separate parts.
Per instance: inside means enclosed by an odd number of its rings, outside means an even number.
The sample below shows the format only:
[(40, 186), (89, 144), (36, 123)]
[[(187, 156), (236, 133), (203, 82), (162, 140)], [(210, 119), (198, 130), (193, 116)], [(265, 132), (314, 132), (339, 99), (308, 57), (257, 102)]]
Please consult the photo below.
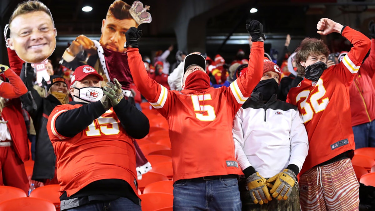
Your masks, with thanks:
[(280, 80), (279, 66), (265, 58), (263, 77), (234, 118), (235, 153), (246, 178), (239, 184), (243, 210), (300, 209), (296, 175), (308, 136), (297, 107), (276, 99)]

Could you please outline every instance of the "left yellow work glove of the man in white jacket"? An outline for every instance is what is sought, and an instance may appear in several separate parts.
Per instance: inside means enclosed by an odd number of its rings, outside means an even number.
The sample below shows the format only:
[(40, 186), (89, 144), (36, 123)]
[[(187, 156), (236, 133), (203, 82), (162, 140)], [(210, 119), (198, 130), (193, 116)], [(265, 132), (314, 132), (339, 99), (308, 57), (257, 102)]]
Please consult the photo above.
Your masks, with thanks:
[(266, 179), (259, 175), (258, 172), (255, 172), (246, 178), (246, 185), (254, 203), (262, 205), (263, 203), (268, 203), (268, 201), (272, 200), (266, 185)]

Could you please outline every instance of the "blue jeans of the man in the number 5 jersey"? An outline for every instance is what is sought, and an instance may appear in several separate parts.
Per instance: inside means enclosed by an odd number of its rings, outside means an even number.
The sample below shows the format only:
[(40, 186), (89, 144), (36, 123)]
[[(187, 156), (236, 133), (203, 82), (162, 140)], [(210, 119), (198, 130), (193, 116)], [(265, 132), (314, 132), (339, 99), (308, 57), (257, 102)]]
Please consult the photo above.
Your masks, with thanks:
[(173, 210), (241, 210), (238, 180), (180, 179), (173, 185)]

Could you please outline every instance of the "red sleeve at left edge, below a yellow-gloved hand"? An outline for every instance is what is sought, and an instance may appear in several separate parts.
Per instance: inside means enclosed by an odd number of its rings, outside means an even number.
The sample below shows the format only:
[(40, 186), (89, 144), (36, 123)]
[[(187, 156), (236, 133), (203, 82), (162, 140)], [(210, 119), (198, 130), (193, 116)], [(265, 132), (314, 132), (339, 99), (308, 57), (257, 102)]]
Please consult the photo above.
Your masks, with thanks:
[(9, 79), (10, 83), (0, 81), (0, 96), (3, 98), (18, 98), (21, 95), (26, 94), (27, 88), (21, 78), (16, 75), (12, 69), (7, 69), (4, 72), (6, 78)]

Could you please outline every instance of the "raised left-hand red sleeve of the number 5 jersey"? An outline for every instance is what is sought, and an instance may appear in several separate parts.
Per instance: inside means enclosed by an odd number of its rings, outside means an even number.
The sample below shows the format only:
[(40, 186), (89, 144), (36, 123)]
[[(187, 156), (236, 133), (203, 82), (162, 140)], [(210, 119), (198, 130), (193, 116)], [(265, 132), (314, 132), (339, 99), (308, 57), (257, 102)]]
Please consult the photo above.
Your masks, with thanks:
[(171, 91), (148, 76), (138, 48), (128, 48), (126, 53), (135, 86), (147, 101), (165, 116), (168, 110), (167, 105), (171, 98)]

